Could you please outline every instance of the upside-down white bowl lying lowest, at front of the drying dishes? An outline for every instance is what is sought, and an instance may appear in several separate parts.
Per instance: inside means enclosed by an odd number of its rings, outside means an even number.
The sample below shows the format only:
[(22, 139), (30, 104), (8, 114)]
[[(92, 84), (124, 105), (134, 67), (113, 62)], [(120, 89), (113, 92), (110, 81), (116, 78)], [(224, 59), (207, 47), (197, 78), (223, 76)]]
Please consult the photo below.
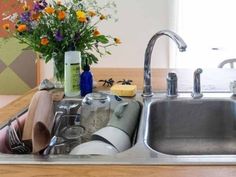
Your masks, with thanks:
[(103, 141), (89, 141), (73, 148), (71, 155), (114, 155), (118, 150)]

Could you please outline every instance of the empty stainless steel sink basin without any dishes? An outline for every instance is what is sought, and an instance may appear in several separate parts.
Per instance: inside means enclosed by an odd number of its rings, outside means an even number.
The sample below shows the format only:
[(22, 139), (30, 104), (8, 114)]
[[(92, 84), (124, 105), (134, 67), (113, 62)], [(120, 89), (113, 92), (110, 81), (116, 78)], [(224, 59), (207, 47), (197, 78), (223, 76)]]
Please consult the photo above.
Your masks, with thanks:
[(165, 99), (149, 105), (147, 145), (169, 155), (236, 154), (236, 101)]

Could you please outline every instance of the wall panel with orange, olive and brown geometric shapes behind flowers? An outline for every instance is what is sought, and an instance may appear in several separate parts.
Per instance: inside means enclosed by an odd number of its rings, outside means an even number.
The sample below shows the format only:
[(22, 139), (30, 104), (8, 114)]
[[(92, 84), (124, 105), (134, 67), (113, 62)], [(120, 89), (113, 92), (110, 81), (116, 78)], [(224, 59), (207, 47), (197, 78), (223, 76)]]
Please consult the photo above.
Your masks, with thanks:
[[(1, 0), (0, 14), (6, 12), (16, 0)], [(15, 8), (16, 10), (16, 8)], [(0, 16), (0, 19), (2, 17)], [(2, 30), (0, 20), (0, 95), (23, 94), (36, 86), (36, 55), (27, 46), (19, 44), (15, 38), (4, 40), (6, 32)]]

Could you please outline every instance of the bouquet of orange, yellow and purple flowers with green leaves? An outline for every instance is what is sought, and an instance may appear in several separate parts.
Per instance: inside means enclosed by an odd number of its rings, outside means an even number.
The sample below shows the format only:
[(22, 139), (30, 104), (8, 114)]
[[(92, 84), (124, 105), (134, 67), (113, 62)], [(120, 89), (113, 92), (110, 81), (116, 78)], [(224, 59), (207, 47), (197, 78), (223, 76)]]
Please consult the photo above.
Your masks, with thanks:
[[(64, 0), (65, 1), (65, 0)], [(68, 1), (68, 0), (67, 0)], [(98, 24), (111, 19), (107, 9), (115, 9), (114, 2), (99, 6), (96, 0), (70, 0), (70, 2), (21, 0), (21, 13), (4, 14), (7, 22), (3, 28), (21, 43), (39, 52), (47, 63), (54, 59), (57, 78), (64, 77), (64, 53), (68, 50), (81, 52), (82, 65), (97, 63), (98, 57), (111, 54), (108, 48), (117, 45), (119, 38), (103, 35)], [(115, 10), (114, 10), (115, 12)], [(11, 29), (11, 23), (14, 29)]]

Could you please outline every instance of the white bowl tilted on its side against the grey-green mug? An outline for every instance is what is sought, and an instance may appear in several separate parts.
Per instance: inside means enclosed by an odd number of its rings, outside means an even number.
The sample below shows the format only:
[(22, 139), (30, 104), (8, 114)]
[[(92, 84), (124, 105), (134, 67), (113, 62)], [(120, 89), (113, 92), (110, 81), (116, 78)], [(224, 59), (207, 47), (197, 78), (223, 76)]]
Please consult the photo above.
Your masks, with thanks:
[(128, 134), (119, 128), (107, 126), (92, 135), (92, 140), (100, 140), (112, 144), (119, 152), (125, 151), (131, 147), (131, 141)]

